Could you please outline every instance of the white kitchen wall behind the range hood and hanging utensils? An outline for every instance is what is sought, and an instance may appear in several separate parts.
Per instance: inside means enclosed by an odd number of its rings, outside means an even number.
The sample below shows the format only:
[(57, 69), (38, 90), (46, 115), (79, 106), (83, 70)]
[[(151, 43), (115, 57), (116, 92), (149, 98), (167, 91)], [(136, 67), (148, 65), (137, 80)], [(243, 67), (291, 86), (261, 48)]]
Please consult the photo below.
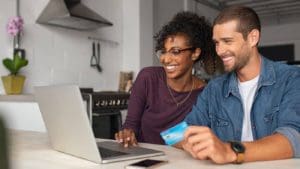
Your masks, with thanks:
[[(36, 24), (35, 20), (48, 0), (20, 0), (24, 18), (24, 35), (21, 46), (26, 50), (29, 65), (22, 70), (26, 76), (25, 93), (32, 93), (32, 86), (74, 83), (95, 90), (117, 90), (119, 71), (122, 67), (123, 6), (120, 0), (82, 0), (84, 4), (110, 20), (112, 27), (82, 32)], [(8, 18), (15, 16), (15, 0), (0, 0), (0, 59), (12, 56), (12, 37), (6, 33)], [(119, 45), (101, 43), (99, 73), (91, 68), (92, 41), (88, 36), (118, 42)], [(0, 74), (8, 74), (0, 66)], [(4, 93), (0, 83), (0, 93)]]

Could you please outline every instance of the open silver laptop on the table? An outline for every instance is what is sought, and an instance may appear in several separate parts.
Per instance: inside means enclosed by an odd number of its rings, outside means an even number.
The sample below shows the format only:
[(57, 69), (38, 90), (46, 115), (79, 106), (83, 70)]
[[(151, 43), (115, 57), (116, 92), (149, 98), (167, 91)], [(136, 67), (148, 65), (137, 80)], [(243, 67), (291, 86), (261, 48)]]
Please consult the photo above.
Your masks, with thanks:
[(39, 86), (34, 89), (55, 150), (99, 164), (164, 155), (162, 151), (142, 147), (124, 148), (113, 140), (96, 140), (78, 86)]

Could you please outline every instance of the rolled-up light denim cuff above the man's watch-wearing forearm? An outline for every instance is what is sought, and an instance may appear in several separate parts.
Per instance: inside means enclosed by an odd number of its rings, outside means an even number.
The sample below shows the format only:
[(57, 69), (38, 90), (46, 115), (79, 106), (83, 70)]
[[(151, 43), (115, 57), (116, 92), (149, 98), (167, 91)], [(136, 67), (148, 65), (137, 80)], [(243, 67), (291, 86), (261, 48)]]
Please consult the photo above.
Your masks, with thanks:
[(280, 133), (287, 137), (293, 147), (294, 157), (300, 157), (300, 133), (297, 130), (290, 127), (279, 127), (274, 133)]

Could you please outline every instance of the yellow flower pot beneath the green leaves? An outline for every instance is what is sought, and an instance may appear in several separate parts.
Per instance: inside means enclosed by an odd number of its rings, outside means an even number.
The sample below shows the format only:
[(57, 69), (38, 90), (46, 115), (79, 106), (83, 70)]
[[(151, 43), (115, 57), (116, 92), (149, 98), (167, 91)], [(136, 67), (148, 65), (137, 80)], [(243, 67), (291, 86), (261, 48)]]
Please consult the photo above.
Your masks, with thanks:
[(22, 75), (8, 75), (2, 76), (2, 82), (6, 94), (20, 94), (22, 93), (25, 76)]

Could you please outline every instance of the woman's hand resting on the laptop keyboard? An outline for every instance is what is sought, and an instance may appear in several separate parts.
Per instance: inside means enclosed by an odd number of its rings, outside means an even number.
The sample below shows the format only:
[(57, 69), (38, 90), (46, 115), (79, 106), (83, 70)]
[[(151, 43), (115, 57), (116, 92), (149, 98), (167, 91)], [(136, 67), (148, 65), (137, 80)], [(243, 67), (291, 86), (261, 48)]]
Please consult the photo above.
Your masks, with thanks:
[(115, 134), (115, 139), (123, 144), (124, 147), (137, 146), (134, 131), (132, 129), (124, 129)]

